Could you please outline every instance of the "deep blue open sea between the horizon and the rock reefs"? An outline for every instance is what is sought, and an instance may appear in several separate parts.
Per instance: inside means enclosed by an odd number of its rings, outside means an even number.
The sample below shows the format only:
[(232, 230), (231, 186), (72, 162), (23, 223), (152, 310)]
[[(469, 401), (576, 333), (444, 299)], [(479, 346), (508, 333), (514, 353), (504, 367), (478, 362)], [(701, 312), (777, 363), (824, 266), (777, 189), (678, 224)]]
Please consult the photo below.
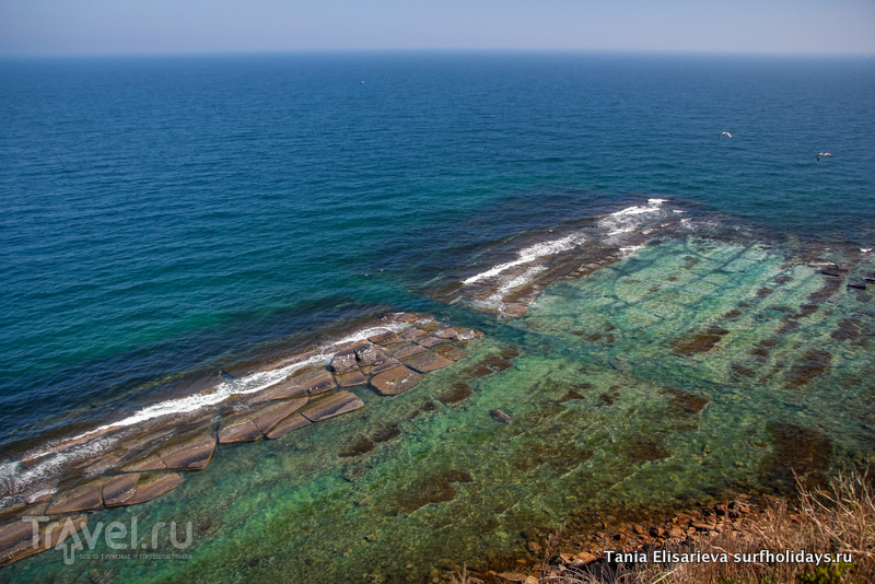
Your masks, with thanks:
[(490, 244), (646, 196), (873, 246), (873, 95), (865, 59), (0, 62), (0, 452), (326, 323), (440, 309)]

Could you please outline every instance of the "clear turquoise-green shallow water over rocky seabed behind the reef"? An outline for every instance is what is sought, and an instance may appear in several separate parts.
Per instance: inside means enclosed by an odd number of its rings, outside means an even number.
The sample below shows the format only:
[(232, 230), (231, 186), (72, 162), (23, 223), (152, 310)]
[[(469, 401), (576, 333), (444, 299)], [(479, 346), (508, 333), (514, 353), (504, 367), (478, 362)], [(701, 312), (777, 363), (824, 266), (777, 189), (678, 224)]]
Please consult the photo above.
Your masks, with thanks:
[(809, 249), (723, 227), (559, 281), (521, 319), (451, 309), (486, 332), (468, 359), (400, 396), (357, 390), (365, 408), (279, 441), (222, 445), (180, 488), (91, 519), (190, 521), (190, 559), (66, 567), (50, 551), (3, 576), (419, 582), (509, 565), (575, 514), (781, 492), (792, 470), (816, 482), (862, 462), (871, 295), (805, 266)]

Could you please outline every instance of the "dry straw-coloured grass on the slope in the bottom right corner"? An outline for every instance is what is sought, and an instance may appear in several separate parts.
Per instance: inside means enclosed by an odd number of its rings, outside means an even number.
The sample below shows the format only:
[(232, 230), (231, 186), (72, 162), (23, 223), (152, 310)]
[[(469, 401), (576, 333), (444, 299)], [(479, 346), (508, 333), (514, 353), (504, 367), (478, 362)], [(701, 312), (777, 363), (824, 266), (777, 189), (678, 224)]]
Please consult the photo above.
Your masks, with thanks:
[[(875, 582), (875, 501), (868, 472), (853, 470), (833, 478), (826, 489), (800, 483), (800, 506), (779, 502), (767, 509), (746, 533), (724, 533), (696, 546), (674, 551), (726, 552), (726, 563), (674, 563), (637, 565), (620, 570), (612, 582), (622, 584), (800, 583), (838, 584)], [(850, 564), (795, 562), (735, 562), (733, 554), (805, 550), (812, 553), (849, 554)], [(847, 558), (848, 556), (845, 556)], [(540, 580), (544, 584), (593, 584), (594, 575), (567, 570)]]

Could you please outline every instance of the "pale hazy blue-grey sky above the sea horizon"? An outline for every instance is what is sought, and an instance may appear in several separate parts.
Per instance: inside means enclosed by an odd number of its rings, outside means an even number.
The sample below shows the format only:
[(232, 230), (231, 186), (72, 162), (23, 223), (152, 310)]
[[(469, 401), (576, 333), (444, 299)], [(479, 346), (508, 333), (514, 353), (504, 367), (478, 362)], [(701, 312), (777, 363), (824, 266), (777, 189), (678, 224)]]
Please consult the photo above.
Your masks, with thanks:
[(0, 0), (0, 55), (324, 49), (875, 54), (875, 0)]

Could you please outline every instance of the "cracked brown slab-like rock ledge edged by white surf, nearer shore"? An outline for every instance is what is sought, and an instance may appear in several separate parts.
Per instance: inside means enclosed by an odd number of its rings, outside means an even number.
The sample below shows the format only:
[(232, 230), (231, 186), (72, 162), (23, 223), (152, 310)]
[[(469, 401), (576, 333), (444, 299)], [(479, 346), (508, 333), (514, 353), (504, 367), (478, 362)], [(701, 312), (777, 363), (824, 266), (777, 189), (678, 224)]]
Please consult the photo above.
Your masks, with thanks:
[[(69, 525), (88, 525), (86, 512), (144, 503), (179, 487), (184, 474), (206, 468), (221, 445), (278, 440), (355, 411), (364, 407), (355, 392), (365, 387), (386, 397), (402, 394), (423, 375), (465, 359), (464, 347), (482, 337), (425, 313), (375, 317), (368, 330), (372, 334), (364, 338), (291, 357), (287, 363), (304, 365), (257, 392), (232, 395), (194, 414), (168, 414), (132, 430), (105, 428), (56, 445), (52, 453), (116, 439), (112, 447), (95, 448), (93, 457), (66, 468), (55, 488), (23, 493), (0, 512), (0, 567), (59, 546), (73, 533)], [(45, 456), (49, 453), (24, 460), (23, 467)], [(34, 516), (48, 518), (36, 533), (24, 519)]]

